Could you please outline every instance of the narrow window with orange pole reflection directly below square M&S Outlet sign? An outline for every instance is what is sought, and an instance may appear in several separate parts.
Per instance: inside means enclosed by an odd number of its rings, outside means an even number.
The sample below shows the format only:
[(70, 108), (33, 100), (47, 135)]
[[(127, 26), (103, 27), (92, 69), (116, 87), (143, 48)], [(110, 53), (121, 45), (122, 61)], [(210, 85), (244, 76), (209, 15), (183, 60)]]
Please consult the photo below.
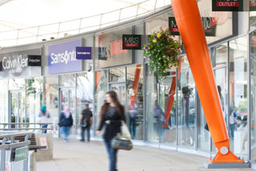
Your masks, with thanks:
[(143, 140), (143, 66), (127, 67), (127, 125), (132, 139)]

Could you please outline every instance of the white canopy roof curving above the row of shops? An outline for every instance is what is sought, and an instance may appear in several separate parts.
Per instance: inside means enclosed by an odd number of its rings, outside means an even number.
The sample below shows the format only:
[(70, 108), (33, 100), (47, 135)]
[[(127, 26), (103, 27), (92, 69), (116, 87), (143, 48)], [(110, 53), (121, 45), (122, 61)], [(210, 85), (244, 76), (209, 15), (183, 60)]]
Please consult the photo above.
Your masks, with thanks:
[(96, 30), (167, 5), (170, 0), (0, 0), (0, 47)]

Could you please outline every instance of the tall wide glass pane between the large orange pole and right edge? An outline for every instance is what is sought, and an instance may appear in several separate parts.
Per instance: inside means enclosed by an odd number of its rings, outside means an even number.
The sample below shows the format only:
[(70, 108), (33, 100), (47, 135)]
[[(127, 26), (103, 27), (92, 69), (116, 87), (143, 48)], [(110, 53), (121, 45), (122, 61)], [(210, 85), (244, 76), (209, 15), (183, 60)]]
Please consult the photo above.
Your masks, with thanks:
[(247, 158), (247, 39), (241, 37), (229, 44), (229, 137), (230, 149)]

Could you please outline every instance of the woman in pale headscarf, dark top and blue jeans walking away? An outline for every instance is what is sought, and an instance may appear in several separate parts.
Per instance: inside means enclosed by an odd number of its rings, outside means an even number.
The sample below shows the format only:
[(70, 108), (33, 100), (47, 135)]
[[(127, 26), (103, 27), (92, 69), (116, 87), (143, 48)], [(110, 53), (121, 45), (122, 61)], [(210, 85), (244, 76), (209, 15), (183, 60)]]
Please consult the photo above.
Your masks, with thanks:
[(60, 123), (65, 142), (68, 142), (70, 127), (73, 126), (73, 118), (69, 110), (69, 106), (65, 106), (64, 110), (61, 111)]

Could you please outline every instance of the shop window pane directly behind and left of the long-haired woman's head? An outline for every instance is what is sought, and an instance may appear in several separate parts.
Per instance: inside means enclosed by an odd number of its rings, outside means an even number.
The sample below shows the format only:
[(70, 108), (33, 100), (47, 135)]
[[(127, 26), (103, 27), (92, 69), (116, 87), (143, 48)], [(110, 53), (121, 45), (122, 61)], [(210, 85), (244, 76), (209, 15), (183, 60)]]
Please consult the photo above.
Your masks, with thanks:
[(95, 124), (98, 127), (100, 119), (99, 119), (99, 111), (101, 106), (103, 106), (105, 100), (105, 94), (108, 90), (107, 83), (107, 70), (103, 71), (95, 71)]

